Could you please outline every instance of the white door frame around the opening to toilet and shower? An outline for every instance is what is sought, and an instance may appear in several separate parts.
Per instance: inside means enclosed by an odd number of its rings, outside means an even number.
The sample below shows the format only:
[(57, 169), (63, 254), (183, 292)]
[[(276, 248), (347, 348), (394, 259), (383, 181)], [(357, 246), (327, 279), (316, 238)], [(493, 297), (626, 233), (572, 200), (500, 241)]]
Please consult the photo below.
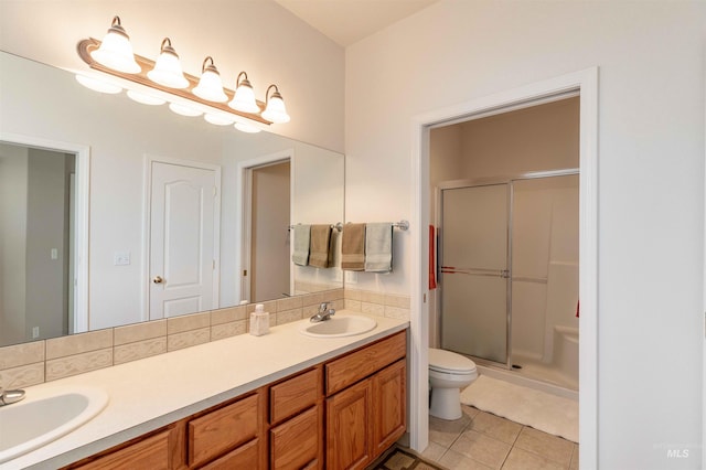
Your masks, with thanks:
[[(429, 191), (430, 131), (443, 126), (522, 109), (578, 94), (579, 110), (579, 434), (580, 466), (597, 466), (598, 448), (598, 68), (591, 67), (472, 99), (467, 103), (415, 116), (413, 119), (413, 202), (414, 225), (427, 227), (435, 200)], [(548, 102), (547, 102), (548, 100)], [(413, 296), (410, 329), (410, 447), (424, 451), (428, 445), (428, 348), (434, 322), (429, 311), (429, 231), (416, 234), (411, 249)], [(432, 337), (434, 338), (434, 337)]]

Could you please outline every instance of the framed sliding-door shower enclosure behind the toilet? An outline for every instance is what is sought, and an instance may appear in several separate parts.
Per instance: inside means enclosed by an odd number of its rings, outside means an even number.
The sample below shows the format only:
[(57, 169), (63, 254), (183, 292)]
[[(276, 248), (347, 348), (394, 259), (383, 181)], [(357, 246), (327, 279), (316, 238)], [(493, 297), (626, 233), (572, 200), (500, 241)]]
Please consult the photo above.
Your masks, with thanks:
[(577, 388), (578, 171), (443, 184), (439, 214), (441, 348)]

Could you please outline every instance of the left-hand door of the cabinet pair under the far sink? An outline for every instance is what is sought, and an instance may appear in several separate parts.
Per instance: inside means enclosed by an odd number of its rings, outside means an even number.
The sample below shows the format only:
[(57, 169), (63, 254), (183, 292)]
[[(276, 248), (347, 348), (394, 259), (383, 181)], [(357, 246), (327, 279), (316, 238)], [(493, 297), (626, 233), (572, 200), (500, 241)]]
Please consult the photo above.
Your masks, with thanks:
[(363, 381), (327, 398), (327, 469), (361, 469), (372, 460), (372, 393)]

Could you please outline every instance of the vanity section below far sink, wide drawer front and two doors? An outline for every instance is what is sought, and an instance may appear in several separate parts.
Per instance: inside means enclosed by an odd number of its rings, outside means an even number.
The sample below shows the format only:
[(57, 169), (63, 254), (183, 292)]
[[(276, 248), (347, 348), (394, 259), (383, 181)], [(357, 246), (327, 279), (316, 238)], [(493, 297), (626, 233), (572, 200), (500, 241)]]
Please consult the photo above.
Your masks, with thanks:
[(361, 469), (406, 429), (406, 332), (325, 365), (327, 469)]

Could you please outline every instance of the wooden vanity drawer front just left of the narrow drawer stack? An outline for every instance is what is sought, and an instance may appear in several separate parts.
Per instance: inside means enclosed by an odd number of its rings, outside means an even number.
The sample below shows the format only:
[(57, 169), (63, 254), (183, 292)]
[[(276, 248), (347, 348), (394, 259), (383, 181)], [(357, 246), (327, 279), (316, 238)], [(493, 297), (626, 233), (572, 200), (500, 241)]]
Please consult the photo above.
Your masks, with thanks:
[(189, 421), (189, 466), (221, 456), (258, 432), (259, 395), (250, 395)]

